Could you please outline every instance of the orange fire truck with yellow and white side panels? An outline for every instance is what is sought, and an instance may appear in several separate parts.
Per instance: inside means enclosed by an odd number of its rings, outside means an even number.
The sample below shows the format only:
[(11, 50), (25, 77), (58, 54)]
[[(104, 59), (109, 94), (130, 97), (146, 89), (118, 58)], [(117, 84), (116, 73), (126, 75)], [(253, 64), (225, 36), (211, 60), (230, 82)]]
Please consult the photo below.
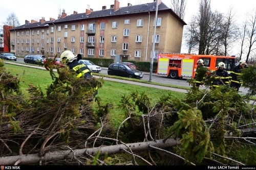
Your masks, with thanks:
[(158, 55), (157, 74), (167, 75), (170, 79), (194, 78), (197, 69), (197, 61), (199, 59), (204, 61), (204, 66), (207, 67), (209, 71), (217, 70), (218, 63), (224, 62), (226, 64), (226, 70), (230, 72), (234, 67), (235, 57), (161, 53)]

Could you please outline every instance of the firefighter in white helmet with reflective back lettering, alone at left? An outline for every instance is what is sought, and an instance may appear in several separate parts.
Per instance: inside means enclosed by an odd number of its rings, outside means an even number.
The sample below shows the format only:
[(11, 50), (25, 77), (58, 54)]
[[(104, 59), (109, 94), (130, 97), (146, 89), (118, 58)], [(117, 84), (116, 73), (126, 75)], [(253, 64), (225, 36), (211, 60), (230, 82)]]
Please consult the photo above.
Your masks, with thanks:
[[(94, 82), (92, 72), (90, 71), (88, 66), (84, 63), (79, 63), (77, 61), (77, 59), (79, 59), (81, 57), (81, 55), (80, 56), (79, 55), (80, 54), (75, 56), (71, 51), (66, 50), (60, 55), (60, 61), (62, 64), (68, 65), (69, 69), (71, 71), (75, 71), (77, 74), (77, 76), (76, 76), (77, 78), (83, 77), (86, 79), (92, 79), (92, 81)], [(98, 89), (98, 87), (96, 86), (94, 88), (93, 96), (98, 94), (97, 89)], [(92, 101), (92, 100), (90, 100), (90, 101)]]

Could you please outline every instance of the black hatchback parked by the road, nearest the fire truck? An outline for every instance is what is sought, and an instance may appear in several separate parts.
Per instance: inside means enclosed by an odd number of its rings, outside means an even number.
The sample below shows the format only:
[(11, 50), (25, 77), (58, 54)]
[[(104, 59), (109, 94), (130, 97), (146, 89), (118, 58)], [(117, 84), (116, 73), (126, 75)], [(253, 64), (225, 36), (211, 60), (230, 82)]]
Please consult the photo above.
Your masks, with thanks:
[(108, 69), (108, 75), (129, 77), (129, 78), (143, 78), (143, 73), (136, 69), (131, 69), (125, 64), (111, 64)]

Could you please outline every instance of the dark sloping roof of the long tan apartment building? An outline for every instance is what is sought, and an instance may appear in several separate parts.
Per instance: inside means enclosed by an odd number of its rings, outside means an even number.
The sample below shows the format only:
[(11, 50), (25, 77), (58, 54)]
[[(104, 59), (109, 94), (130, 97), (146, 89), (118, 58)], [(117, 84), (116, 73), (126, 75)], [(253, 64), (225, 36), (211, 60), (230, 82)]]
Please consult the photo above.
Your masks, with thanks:
[[(119, 10), (116, 10), (116, 11), (114, 11), (114, 8), (104, 9), (100, 11), (92, 11), (88, 15), (86, 15), (86, 13), (71, 14), (63, 18), (58, 18), (54, 21), (46, 21), (45, 23), (40, 23), (40, 22), (29, 23), (28, 25), (22, 25), (10, 30), (45, 27), (45, 26), (49, 26), (49, 23), (59, 23), (59, 22), (83, 20), (83, 19), (98, 18), (98, 17), (120, 16), (120, 15), (127, 15), (127, 14), (152, 12), (152, 11), (156, 11), (156, 3), (147, 3), (147, 4), (141, 4), (141, 5), (135, 5), (135, 6), (120, 7)], [(187, 25), (172, 9), (168, 8), (164, 3), (159, 4), (158, 11), (168, 11), (175, 18), (177, 18), (183, 25)]]

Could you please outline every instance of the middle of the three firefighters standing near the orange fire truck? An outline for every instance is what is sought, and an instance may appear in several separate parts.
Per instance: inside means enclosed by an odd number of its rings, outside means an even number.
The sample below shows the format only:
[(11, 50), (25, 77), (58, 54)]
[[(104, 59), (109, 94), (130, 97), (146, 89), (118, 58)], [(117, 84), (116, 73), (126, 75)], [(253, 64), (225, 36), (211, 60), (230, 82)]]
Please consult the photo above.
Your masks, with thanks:
[(219, 62), (218, 69), (211, 74), (214, 77), (214, 80), (211, 82), (213, 88), (229, 85), (228, 72), (225, 70), (225, 67), (225, 63)]

